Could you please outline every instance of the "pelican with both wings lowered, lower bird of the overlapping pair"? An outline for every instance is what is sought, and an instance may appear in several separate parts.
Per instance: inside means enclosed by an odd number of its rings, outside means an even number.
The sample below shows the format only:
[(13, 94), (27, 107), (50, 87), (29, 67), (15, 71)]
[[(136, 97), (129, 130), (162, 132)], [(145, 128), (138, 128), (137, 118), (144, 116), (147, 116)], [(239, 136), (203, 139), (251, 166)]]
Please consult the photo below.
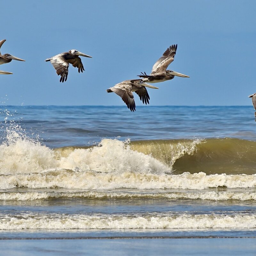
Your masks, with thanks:
[(145, 88), (149, 87), (152, 89), (158, 89), (155, 86), (146, 84), (142, 79), (126, 80), (119, 84), (114, 85), (107, 89), (107, 92), (115, 92), (118, 96), (122, 98), (124, 103), (127, 105), (127, 108), (130, 108), (131, 111), (135, 111), (135, 101), (132, 92), (136, 92), (140, 96), (140, 100), (147, 105), (149, 104), (149, 95), (148, 91)]

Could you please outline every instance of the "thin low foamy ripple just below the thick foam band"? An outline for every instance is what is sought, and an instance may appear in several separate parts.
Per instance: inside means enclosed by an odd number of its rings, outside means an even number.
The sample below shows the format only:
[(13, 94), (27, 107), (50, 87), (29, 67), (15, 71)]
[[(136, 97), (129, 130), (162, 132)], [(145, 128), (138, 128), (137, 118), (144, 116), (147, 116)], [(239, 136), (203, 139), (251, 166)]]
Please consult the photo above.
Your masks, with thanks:
[(0, 201), (31, 201), (47, 200), (50, 198), (84, 198), (84, 199), (202, 199), (202, 200), (256, 200), (256, 192), (239, 191), (198, 191), (198, 192), (163, 192), (163, 193), (134, 193), (134, 192), (115, 192), (115, 191), (83, 191), (83, 192), (0, 192)]

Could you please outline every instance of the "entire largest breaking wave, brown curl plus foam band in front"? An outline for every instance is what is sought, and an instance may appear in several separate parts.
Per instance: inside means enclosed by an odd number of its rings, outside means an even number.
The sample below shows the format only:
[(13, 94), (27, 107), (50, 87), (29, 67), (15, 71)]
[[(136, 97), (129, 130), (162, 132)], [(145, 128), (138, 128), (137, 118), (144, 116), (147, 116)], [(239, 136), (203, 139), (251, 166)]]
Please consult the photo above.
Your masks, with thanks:
[[(0, 189), (256, 187), (256, 142), (119, 141), (50, 149), (15, 131), (0, 145)], [(236, 174), (237, 173), (237, 174)]]

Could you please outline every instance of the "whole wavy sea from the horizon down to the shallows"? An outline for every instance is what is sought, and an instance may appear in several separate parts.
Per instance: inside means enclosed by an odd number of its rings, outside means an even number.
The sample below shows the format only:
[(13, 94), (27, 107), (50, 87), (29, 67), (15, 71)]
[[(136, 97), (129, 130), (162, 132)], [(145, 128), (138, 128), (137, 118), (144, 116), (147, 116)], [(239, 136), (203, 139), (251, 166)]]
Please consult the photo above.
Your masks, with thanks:
[[(231, 239), (239, 251), (247, 238), (255, 251), (252, 106), (0, 106), (0, 121), (2, 246), (85, 239), (97, 255), (93, 241), (105, 238), (137, 255), (142, 238), (177, 252), (193, 238)], [(73, 255), (58, 252), (36, 255)]]

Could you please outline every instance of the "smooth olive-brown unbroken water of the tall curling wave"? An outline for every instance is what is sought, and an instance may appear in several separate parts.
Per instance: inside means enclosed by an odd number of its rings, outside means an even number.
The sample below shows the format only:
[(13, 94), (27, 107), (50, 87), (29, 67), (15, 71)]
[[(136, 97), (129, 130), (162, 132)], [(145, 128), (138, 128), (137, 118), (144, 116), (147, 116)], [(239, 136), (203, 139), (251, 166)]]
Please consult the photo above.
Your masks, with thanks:
[[(256, 173), (255, 141), (235, 138), (140, 140), (131, 141), (127, 146), (134, 151), (151, 155), (172, 167), (173, 174), (204, 172), (207, 175), (221, 173), (251, 175)], [(68, 156), (76, 148), (92, 147), (63, 147), (55, 150), (59, 156)]]

